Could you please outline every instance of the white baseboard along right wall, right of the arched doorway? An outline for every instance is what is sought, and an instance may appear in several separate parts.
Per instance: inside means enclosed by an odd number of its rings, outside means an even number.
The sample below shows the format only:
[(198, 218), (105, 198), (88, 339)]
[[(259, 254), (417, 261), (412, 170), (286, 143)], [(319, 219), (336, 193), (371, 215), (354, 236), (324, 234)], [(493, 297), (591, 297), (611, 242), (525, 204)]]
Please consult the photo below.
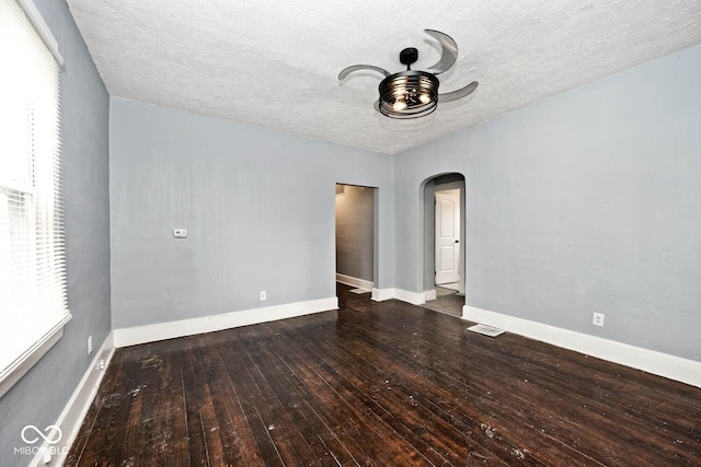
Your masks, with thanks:
[(462, 319), (701, 387), (701, 362), (464, 305)]

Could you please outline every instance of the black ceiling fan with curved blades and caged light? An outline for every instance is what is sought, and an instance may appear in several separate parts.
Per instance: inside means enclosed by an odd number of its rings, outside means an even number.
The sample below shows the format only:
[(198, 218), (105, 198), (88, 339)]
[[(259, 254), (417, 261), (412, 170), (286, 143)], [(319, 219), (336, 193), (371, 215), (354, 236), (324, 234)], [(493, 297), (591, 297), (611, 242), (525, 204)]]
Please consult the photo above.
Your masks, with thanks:
[(435, 30), (424, 30), (440, 44), (440, 59), (427, 71), (412, 70), (412, 63), (418, 59), (418, 50), (407, 47), (400, 51), (399, 61), (406, 66), (405, 71), (391, 74), (389, 71), (372, 65), (354, 65), (344, 68), (338, 73), (338, 81), (343, 81), (348, 74), (359, 70), (374, 70), (382, 73), (384, 79), (380, 82), (380, 98), (375, 103), (375, 108), (382, 115), (391, 118), (418, 118), (433, 113), (438, 102), (450, 102), (466, 97), (479, 85), (476, 81), (445, 94), (438, 94), (440, 81), (436, 74), (448, 71), (458, 60), (458, 44), (447, 34)]

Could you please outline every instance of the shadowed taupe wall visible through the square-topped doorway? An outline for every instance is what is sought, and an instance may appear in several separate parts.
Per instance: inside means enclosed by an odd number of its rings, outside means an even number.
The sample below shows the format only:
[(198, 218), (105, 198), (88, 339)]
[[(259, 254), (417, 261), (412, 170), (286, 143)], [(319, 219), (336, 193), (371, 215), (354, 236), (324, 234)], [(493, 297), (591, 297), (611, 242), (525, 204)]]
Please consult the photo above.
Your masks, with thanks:
[(336, 272), (372, 282), (375, 189), (344, 185), (336, 196)]

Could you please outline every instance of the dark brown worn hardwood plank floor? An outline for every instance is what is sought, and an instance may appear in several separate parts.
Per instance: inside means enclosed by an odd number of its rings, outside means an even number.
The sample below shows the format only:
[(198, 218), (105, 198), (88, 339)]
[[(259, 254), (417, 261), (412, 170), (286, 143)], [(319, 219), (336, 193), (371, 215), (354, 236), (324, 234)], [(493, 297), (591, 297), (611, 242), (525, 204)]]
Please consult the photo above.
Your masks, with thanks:
[(338, 297), (117, 349), (66, 465), (701, 465), (700, 388)]

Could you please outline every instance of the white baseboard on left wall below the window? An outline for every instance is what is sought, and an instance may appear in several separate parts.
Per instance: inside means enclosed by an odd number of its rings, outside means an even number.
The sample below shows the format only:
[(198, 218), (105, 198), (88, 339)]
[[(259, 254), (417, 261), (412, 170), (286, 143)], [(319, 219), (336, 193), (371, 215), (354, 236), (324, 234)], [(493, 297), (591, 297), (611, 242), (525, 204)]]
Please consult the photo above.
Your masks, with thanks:
[[(100, 388), (100, 383), (102, 382), (102, 377), (105, 375), (107, 371), (107, 366), (110, 366), (110, 362), (112, 361), (112, 355), (114, 354), (114, 339), (113, 334), (110, 332), (105, 338), (104, 342), (100, 347), (100, 350), (95, 353), (95, 358), (90, 363), (88, 371), (78, 383), (76, 390), (68, 399), (66, 407), (61, 411), (60, 416), (58, 416), (58, 420), (55, 425), (61, 430), (61, 437), (55, 444), (48, 444), (48, 442), (44, 442), (42, 447), (38, 450), (38, 453), (32, 462), (30, 463), (31, 467), (37, 467), (44, 465), (44, 453), (48, 452), (51, 454), (51, 466), (62, 466), (66, 462), (66, 456), (70, 450), (70, 446), (76, 441), (76, 436), (80, 431), (80, 425), (88, 413), (88, 409), (92, 405), (95, 395), (97, 394), (97, 389)], [(104, 361), (104, 366), (100, 367), (100, 362)]]

